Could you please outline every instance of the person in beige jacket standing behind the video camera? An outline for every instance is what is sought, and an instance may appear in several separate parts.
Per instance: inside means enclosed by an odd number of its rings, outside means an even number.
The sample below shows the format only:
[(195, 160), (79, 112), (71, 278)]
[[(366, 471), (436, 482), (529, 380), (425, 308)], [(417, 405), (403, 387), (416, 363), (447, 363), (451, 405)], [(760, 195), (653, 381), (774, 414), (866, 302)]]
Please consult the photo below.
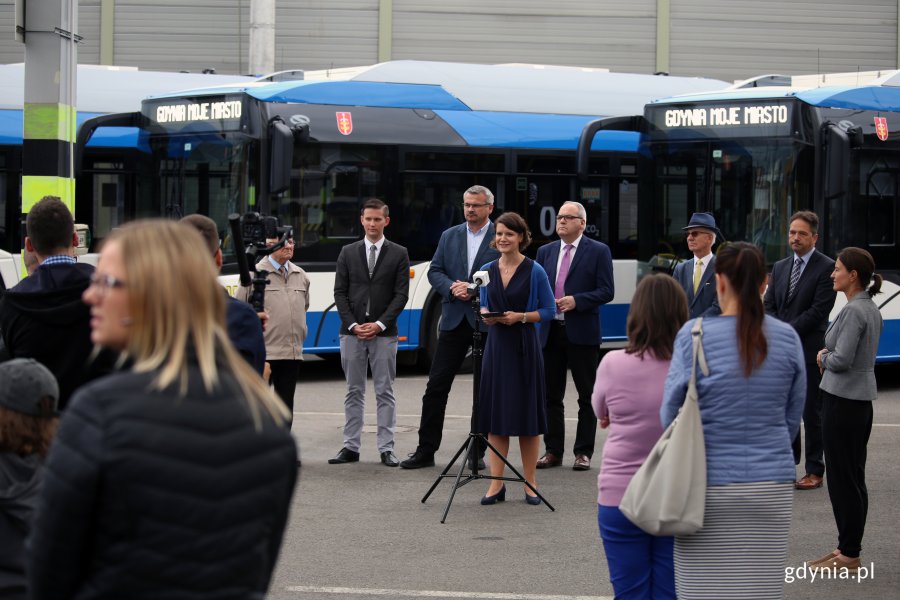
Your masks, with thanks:
[[(277, 237), (266, 238), (266, 246), (279, 243)], [(265, 309), (269, 318), (265, 327), (266, 362), (271, 367), (269, 382), (275, 393), (291, 411), (293, 422), (294, 392), (303, 360), (303, 340), (306, 339), (306, 311), (309, 309), (309, 277), (306, 271), (291, 262), (294, 257), (294, 238), (288, 236), (284, 246), (263, 258), (256, 270), (265, 273), (268, 285)], [(247, 300), (251, 288), (241, 287), (236, 297)]]

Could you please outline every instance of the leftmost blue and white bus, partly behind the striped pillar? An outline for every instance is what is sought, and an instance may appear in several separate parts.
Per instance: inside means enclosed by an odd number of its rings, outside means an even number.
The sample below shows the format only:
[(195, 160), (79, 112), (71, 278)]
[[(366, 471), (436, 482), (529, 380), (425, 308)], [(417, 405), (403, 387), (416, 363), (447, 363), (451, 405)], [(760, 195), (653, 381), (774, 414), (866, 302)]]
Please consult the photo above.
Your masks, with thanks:
[[(159, 94), (223, 84), (248, 83), (255, 78), (235, 75), (139, 71), (133, 67), (79, 65), (77, 123), (105, 115), (140, 109), (141, 101)], [(22, 137), (25, 102), (25, 65), (0, 65), (0, 290), (21, 276)], [(76, 178), (75, 220), (88, 226), (95, 239), (135, 216), (154, 214), (138, 190), (138, 173), (149, 165), (149, 148), (141, 148), (137, 127), (108, 127), (80, 152), (81, 174)]]

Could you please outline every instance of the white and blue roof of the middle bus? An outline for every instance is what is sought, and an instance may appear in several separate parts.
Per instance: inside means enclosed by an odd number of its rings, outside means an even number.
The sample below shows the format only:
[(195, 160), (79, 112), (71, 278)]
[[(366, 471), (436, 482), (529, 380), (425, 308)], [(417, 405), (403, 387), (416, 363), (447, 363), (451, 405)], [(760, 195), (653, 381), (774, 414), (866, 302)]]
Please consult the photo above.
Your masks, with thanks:
[(610, 73), (545, 65), (478, 65), (391, 61), (346, 71), (340, 80), (251, 83), (185, 95), (245, 92), (270, 102), (384, 106), (559, 115), (619, 116), (641, 112), (664, 96), (718, 90), (729, 84), (699, 77)]

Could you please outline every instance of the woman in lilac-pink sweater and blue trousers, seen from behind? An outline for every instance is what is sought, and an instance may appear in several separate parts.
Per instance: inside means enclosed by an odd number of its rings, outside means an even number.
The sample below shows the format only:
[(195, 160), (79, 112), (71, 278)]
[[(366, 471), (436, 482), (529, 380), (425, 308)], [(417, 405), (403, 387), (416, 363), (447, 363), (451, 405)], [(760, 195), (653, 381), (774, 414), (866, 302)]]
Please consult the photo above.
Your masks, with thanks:
[(607, 352), (597, 368), (591, 403), (600, 427), (609, 427), (597, 477), (597, 522), (616, 598), (675, 598), (672, 537), (644, 533), (619, 502), (662, 435), (663, 386), (675, 335), (687, 319), (687, 295), (675, 279), (644, 277), (628, 310), (628, 345)]

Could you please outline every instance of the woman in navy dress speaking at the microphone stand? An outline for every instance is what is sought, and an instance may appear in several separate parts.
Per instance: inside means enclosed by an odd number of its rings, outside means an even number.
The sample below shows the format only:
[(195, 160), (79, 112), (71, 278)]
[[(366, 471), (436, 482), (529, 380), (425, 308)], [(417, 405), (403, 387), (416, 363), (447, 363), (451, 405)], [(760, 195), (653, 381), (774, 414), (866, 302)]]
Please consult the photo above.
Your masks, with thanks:
[[(479, 388), (478, 430), (505, 457), (510, 436), (519, 438), (525, 479), (532, 486), (540, 449), (540, 436), (547, 431), (544, 397), (544, 360), (535, 324), (553, 318), (553, 290), (544, 269), (522, 254), (531, 243), (525, 219), (507, 212), (496, 221), (492, 246), (500, 258), (483, 268), (490, 283), (481, 289), (482, 312), (503, 313), (488, 317), (491, 326), (484, 349)], [(505, 464), (490, 454), (491, 475), (502, 477)], [(491, 480), (482, 504), (506, 499), (506, 486)], [(540, 504), (526, 486), (525, 500)]]

